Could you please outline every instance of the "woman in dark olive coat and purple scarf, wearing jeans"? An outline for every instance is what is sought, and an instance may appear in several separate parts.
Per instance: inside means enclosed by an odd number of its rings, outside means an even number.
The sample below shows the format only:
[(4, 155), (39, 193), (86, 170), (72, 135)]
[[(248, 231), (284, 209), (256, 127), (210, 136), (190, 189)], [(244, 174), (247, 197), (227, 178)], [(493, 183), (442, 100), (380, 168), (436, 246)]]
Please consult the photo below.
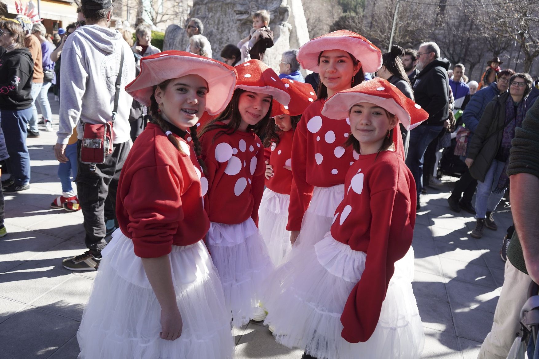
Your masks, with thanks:
[(473, 238), (481, 238), (485, 227), (497, 230), (493, 212), (509, 184), (506, 171), (511, 140), (526, 115), (526, 99), (532, 86), (530, 75), (517, 73), (509, 84), (509, 92), (496, 96), (485, 108), (466, 158), (470, 174), (478, 180)]

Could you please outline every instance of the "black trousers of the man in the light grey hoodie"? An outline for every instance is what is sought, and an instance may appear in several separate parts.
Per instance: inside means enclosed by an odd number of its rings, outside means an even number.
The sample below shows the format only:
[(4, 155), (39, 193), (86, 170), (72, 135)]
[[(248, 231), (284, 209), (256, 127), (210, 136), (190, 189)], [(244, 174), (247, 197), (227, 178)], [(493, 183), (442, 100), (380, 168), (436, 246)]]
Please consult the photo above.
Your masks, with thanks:
[(105, 163), (88, 164), (80, 162), (81, 142), (77, 143), (78, 171), (77, 192), (80, 209), (84, 217), (86, 231), (85, 244), (89, 250), (99, 253), (107, 245), (105, 234), (105, 201), (108, 198), (116, 207), (116, 191), (123, 163), (129, 153), (129, 141), (114, 144), (112, 154), (105, 157)]

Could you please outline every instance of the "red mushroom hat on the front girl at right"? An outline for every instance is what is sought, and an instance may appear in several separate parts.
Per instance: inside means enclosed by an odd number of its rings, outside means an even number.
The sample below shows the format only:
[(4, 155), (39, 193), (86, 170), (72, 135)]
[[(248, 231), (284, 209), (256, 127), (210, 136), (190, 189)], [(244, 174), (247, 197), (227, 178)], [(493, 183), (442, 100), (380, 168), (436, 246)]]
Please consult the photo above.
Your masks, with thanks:
[(330, 119), (345, 119), (348, 117), (350, 108), (359, 102), (370, 102), (384, 108), (397, 116), (399, 122), (407, 130), (419, 126), (421, 122), (429, 118), (429, 113), (421, 106), (407, 98), (388, 80), (381, 78), (365, 81), (337, 92), (324, 103), (322, 115)]

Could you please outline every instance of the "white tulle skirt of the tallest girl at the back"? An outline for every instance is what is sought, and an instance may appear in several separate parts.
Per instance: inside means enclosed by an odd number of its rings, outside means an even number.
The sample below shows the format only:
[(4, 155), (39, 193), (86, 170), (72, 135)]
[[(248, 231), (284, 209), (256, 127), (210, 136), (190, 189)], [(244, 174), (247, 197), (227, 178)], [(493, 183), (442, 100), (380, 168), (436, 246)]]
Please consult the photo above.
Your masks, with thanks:
[[(315, 187), (309, 208), (303, 216), (301, 231), (292, 251), (286, 254), (285, 261), (295, 255), (297, 249), (303, 250), (322, 240), (331, 228), (337, 206), (344, 198), (344, 184), (332, 187)], [(303, 248), (303, 249), (301, 249)]]

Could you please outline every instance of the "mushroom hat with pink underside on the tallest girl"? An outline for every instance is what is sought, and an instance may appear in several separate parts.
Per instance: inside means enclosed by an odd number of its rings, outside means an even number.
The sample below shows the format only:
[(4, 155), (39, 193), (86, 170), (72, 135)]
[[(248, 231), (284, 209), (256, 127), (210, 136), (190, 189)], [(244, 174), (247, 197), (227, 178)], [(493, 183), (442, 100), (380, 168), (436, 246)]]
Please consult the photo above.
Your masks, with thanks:
[(369, 40), (349, 30), (338, 30), (314, 38), (300, 47), (296, 57), (301, 67), (319, 73), (318, 57), (322, 51), (342, 50), (361, 63), (363, 72), (376, 72), (382, 67), (382, 52)]

